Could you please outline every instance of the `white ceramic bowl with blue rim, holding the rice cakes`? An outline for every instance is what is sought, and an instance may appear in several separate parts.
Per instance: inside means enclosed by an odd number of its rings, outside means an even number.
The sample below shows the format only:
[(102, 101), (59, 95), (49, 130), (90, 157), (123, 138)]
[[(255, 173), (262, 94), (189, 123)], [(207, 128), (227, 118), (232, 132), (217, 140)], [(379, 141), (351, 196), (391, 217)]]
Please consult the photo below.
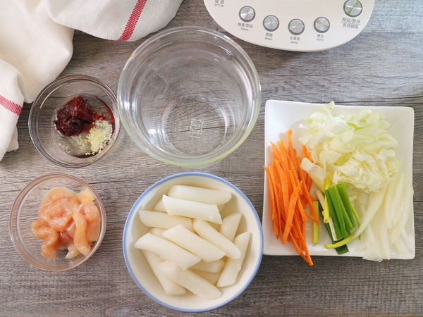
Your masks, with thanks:
[[(225, 209), (221, 211), (222, 216), (233, 211), (243, 213), (238, 233), (244, 231), (251, 232), (250, 246), (245, 256), (243, 268), (238, 275), (238, 280), (235, 285), (221, 288), (222, 295), (218, 299), (202, 299), (190, 292), (187, 292), (182, 297), (166, 295), (151, 268), (149, 268), (142, 251), (134, 247), (137, 239), (149, 230), (149, 228), (141, 223), (137, 211), (140, 209), (152, 210), (154, 204), (161, 198), (161, 195), (166, 194), (172, 185), (177, 184), (222, 189), (231, 192), (233, 198), (226, 204)], [(180, 173), (156, 182), (146, 189), (137, 201), (135, 201), (126, 219), (125, 229), (123, 230), (123, 256), (125, 257), (125, 263), (131, 277), (148, 297), (169, 309), (175, 309), (177, 311), (209, 311), (233, 301), (252, 282), (262, 261), (262, 254), (262, 225), (251, 201), (238, 187), (231, 184), (231, 182), (207, 173)]]

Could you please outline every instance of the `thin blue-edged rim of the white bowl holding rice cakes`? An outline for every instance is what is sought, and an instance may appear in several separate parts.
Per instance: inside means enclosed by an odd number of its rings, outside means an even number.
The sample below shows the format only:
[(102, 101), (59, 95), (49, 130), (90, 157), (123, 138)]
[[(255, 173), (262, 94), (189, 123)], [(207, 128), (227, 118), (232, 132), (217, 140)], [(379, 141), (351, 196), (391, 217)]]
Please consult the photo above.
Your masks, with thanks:
[[(158, 187), (159, 185), (163, 184), (164, 182), (167, 182), (168, 180), (173, 180), (174, 178), (180, 178), (180, 177), (184, 177), (184, 176), (200, 176), (200, 177), (212, 178), (214, 180), (219, 180), (220, 182), (223, 182), (223, 184), (228, 185), (229, 187), (235, 189), (235, 192), (237, 192), (240, 195), (240, 197), (242, 199), (244, 199), (244, 201), (246, 201), (247, 204), (250, 206), (250, 210), (253, 211), (253, 215), (254, 215), (255, 220), (257, 222), (257, 227), (259, 228), (259, 239), (260, 239), (259, 256), (258, 256), (258, 259), (257, 259), (257, 263), (255, 263), (255, 268), (254, 268), (250, 278), (248, 278), (245, 285), (243, 285), (243, 287), (241, 287), (240, 290), (238, 290), (238, 292), (236, 292), (236, 294), (234, 294), (231, 298), (226, 299), (226, 301), (221, 302), (219, 304), (216, 304), (214, 306), (205, 307), (204, 309), (183, 309), (183, 308), (180, 308), (180, 307), (177, 307), (177, 306), (172, 306), (172, 305), (166, 304), (165, 302), (162, 302), (160, 299), (157, 299), (157, 297), (154, 297), (154, 295), (151, 294), (144, 286), (142, 286), (142, 284), (135, 277), (135, 274), (133, 273), (133, 269), (131, 268), (129, 260), (128, 260), (128, 249), (125, 247), (125, 245), (126, 245), (125, 242), (126, 242), (126, 240), (128, 240), (128, 235), (129, 235), (129, 223), (130, 223), (130, 221), (133, 221), (133, 218), (137, 215), (138, 205), (141, 203), (142, 199), (144, 199), (144, 197), (150, 191), (152, 191), (152, 189)], [(135, 282), (137, 287), (139, 287), (140, 290), (142, 290), (142, 292), (144, 292), (147, 295), (147, 297), (149, 297), (150, 299), (153, 299), (154, 302), (157, 302), (158, 304), (161, 304), (162, 306), (165, 306), (168, 309), (173, 309), (173, 310), (176, 310), (176, 311), (183, 311), (183, 312), (186, 312), (186, 313), (200, 313), (202, 311), (212, 311), (213, 309), (217, 309), (221, 306), (228, 304), (229, 302), (232, 302), (235, 298), (240, 296), (240, 294), (242, 294), (247, 289), (247, 287), (250, 285), (252, 280), (254, 280), (255, 275), (257, 274), (257, 271), (259, 270), (260, 263), (262, 263), (263, 246), (264, 246), (264, 238), (263, 238), (262, 223), (260, 222), (259, 215), (257, 214), (257, 211), (256, 211), (255, 207), (253, 206), (252, 202), (250, 201), (250, 199), (248, 199), (248, 197), (238, 187), (233, 185), (228, 180), (225, 180), (225, 179), (223, 179), (219, 176), (216, 176), (216, 175), (213, 175), (213, 174), (210, 174), (210, 173), (203, 173), (203, 172), (183, 172), (183, 173), (177, 173), (177, 174), (169, 175), (166, 178), (162, 178), (161, 180), (155, 182), (153, 185), (151, 185), (147, 189), (145, 189), (145, 191), (140, 195), (140, 197), (137, 198), (137, 200), (135, 201), (135, 203), (133, 204), (132, 208), (130, 209), (130, 211), (128, 213), (128, 217), (125, 220), (125, 226), (123, 228), (123, 239), (122, 239), (123, 258), (125, 259), (125, 265), (126, 265), (126, 268), (128, 268), (128, 272), (130, 273), (130, 277), (133, 279), (133, 281)]]

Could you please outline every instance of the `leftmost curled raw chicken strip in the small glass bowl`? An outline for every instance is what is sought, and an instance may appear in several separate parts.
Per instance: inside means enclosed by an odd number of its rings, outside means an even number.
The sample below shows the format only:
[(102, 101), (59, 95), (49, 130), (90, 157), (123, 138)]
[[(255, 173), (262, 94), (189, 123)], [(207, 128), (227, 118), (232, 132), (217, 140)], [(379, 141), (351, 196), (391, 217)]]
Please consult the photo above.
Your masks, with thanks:
[(48, 259), (56, 259), (60, 244), (57, 231), (49, 228), (48, 223), (40, 219), (32, 221), (31, 229), (35, 237), (43, 240), (41, 254)]

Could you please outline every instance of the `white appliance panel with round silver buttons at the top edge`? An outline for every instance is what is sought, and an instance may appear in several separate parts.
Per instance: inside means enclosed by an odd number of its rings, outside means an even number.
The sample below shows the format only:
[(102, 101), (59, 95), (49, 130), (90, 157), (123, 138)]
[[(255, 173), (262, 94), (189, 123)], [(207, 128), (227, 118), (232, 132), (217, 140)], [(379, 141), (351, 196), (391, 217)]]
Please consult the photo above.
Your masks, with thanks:
[(223, 29), (246, 42), (288, 51), (321, 51), (356, 37), (374, 0), (204, 0)]

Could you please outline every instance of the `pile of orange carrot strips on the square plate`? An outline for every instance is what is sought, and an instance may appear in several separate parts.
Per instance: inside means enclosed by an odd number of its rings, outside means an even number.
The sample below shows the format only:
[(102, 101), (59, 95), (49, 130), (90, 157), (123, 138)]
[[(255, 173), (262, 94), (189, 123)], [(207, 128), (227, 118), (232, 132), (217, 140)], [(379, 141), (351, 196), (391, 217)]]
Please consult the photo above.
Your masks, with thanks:
[[(269, 187), (274, 233), (283, 244), (292, 242), (302, 259), (312, 266), (305, 224), (308, 218), (319, 223), (319, 217), (313, 207), (315, 199), (309, 193), (312, 179), (300, 167), (302, 159), (312, 161), (312, 156), (305, 146), (302, 146), (301, 151), (293, 147), (292, 130), (287, 132), (287, 143), (283, 139), (276, 144), (271, 142), (271, 151), (271, 164), (264, 166), (264, 170)], [(310, 213), (305, 211), (307, 206)]]

